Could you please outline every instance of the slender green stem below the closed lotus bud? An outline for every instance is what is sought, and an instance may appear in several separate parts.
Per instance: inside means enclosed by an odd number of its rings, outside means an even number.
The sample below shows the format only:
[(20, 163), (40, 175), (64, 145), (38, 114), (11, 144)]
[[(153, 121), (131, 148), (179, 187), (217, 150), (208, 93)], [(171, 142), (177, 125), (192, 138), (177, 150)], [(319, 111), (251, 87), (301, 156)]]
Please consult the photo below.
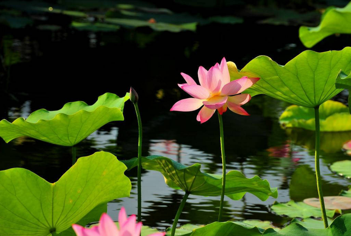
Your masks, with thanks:
[(135, 107), (135, 112), (138, 117), (138, 127), (139, 127), (139, 143), (138, 143), (138, 222), (141, 221), (141, 144), (143, 142), (143, 127), (141, 126), (141, 118), (138, 103), (133, 103)]

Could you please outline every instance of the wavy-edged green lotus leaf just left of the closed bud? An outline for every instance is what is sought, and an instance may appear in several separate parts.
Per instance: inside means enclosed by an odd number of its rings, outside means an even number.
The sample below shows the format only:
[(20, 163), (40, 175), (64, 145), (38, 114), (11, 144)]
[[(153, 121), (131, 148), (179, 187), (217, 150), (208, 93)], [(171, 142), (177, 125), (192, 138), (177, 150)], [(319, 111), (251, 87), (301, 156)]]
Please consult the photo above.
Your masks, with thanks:
[(74, 146), (104, 124), (124, 120), (123, 107), (128, 99), (128, 93), (124, 97), (105, 93), (92, 106), (81, 101), (69, 102), (60, 110), (37, 110), (26, 120), (22, 117), (12, 123), (2, 120), (0, 137), (7, 143), (28, 136), (62, 146)]

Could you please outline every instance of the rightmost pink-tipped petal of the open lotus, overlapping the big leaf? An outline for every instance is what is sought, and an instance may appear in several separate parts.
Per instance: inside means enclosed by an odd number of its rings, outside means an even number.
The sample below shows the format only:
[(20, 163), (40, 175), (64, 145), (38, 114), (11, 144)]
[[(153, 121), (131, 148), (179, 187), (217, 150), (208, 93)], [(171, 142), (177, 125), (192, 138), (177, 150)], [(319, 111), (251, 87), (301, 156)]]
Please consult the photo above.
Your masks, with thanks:
[(241, 77), (240, 79), (233, 80), (223, 86), (221, 90), (221, 96), (230, 96), (243, 92), (245, 89), (251, 87), (256, 83), (259, 78), (248, 78), (247, 76)]

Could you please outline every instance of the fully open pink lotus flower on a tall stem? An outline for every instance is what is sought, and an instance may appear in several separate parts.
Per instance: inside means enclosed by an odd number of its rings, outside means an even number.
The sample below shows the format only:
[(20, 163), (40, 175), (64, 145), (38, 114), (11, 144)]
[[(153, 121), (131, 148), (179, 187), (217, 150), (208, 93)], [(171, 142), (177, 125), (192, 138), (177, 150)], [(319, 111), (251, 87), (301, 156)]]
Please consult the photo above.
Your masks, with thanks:
[(197, 115), (197, 120), (201, 123), (210, 119), (216, 109), (221, 115), (227, 111), (227, 108), (240, 115), (249, 115), (240, 106), (250, 101), (251, 96), (250, 94), (239, 93), (251, 87), (259, 78), (244, 76), (240, 79), (230, 81), (225, 58), (222, 59), (220, 65), (216, 63), (208, 71), (202, 66), (199, 67), (198, 76), (200, 85), (197, 85), (189, 75), (180, 74), (186, 83), (178, 84), (178, 86), (190, 94), (192, 98), (176, 102), (171, 108), (171, 111), (191, 112), (204, 105)]

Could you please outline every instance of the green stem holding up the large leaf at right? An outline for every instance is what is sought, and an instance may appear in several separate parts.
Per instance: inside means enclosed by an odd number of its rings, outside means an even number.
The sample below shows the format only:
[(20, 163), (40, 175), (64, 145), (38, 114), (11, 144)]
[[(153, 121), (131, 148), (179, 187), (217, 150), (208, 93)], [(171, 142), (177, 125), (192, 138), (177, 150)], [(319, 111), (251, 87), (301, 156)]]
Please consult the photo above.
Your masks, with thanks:
[(320, 182), (320, 169), (319, 169), (319, 151), (320, 151), (320, 132), (319, 132), (319, 106), (314, 108), (314, 118), (316, 123), (316, 151), (314, 153), (314, 164), (316, 168), (316, 178), (317, 178), (317, 190), (320, 202), (320, 208), (322, 210), (322, 218), (324, 222), (324, 228), (328, 227), (327, 215), (325, 212), (324, 198), (322, 183)]

